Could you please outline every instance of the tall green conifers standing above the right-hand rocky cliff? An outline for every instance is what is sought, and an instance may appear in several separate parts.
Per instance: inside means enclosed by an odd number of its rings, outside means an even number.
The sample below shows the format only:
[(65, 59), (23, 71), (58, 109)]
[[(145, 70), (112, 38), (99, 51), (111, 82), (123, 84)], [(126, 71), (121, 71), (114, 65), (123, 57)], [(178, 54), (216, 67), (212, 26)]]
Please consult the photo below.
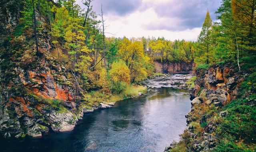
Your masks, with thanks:
[(198, 36), (195, 62), (253, 62), (256, 55), (256, 2), (254, 0), (222, 0), (216, 11), (219, 22), (212, 22), (207, 12)]

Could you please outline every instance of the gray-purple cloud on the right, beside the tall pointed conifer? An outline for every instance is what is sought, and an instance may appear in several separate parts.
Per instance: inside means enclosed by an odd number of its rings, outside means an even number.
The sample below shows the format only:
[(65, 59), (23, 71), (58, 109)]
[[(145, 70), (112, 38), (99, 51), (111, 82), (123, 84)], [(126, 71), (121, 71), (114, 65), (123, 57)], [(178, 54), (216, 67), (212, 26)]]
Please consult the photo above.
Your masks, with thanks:
[(153, 6), (154, 10), (160, 18), (161, 16), (178, 18), (180, 21), (169, 23), (176, 26), (156, 24), (154, 26), (145, 25), (144, 27), (149, 30), (166, 29), (171, 31), (202, 27), (207, 10), (210, 11), (212, 20), (216, 20), (214, 12), (220, 6), (220, 2), (221, 0), (174, 0), (162, 4), (155, 4)]

